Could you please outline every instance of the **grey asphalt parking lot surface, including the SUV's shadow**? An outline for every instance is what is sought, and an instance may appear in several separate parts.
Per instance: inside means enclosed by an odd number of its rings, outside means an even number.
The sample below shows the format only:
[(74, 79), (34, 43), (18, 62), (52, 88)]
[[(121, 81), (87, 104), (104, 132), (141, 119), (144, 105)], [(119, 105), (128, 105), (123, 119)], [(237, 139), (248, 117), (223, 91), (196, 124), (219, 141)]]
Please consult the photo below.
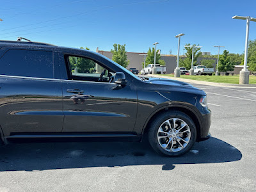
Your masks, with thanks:
[(256, 88), (205, 90), (212, 138), (182, 157), (146, 143), (0, 147), (0, 191), (255, 191)]

